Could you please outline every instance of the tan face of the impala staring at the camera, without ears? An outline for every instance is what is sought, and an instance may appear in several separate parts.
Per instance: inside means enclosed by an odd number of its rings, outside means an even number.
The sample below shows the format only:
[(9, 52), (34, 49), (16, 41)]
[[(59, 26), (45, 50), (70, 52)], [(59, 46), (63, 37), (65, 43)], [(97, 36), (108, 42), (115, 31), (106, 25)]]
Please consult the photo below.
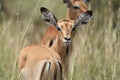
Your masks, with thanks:
[(60, 20), (58, 21), (59, 33), (61, 35), (62, 41), (65, 44), (71, 43), (71, 37), (73, 34), (74, 21), (72, 20)]

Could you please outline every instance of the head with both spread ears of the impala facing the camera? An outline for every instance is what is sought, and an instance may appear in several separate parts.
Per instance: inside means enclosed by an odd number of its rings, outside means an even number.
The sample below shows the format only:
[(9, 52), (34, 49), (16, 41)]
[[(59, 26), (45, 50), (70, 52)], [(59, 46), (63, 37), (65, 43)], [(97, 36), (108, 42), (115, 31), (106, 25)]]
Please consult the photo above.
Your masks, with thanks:
[(43, 20), (54, 26), (60, 33), (60, 37), (65, 44), (71, 43), (71, 38), (77, 27), (87, 24), (92, 16), (92, 11), (86, 11), (81, 14), (75, 21), (72, 20), (57, 20), (53, 13), (45, 7), (40, 9)]

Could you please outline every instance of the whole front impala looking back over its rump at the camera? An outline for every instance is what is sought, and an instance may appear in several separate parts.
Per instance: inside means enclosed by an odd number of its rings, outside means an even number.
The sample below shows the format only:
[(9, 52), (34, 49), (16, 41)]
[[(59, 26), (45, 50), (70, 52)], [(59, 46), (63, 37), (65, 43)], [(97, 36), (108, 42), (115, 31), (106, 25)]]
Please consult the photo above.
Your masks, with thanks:
[[(54, 26), (58, 35), (52, 39), (54, 44), (50, 48), (39, 45), (23, 49), (18, 59), (22, 78), (25, 80), (47, 80), (48, 78), (48, 80), (61, 80), (62, 63), (57, 53), (64, 53), (71, 43), (71, 38), (77, 27), (86, 24), (90, 20), (92, 12), (87, 11), (81, 14), (76, 21), (57, 21), (54, 14), (45, 7), (40, 10), (43, 20)], [(60, 55), (64, 56), (64, 54)]]

